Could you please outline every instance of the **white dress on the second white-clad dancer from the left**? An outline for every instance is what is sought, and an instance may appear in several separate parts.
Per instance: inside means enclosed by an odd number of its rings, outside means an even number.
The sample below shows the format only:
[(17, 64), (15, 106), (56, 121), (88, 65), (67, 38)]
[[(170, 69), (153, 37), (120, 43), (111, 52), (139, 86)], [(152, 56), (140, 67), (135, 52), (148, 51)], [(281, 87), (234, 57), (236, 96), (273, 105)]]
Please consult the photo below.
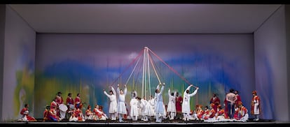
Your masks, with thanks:
[(117, 93), (119, 96), (118, 99), (118, 114), (127, 114), (126, 106), (125, 106), (125, 96), (127, 94), (127, 87), (125, 87), (123, 94), (120, 94), (119, 87), (117, 88)]

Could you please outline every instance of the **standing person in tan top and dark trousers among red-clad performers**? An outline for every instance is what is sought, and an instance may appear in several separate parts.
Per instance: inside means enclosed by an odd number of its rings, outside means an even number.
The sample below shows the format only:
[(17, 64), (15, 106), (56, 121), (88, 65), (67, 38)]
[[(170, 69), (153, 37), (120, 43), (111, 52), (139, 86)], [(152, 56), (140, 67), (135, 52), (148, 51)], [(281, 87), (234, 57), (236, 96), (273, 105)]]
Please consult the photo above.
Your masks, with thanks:
[(230, 117), (230, 119), (233, 119), (235, 114), (235, 100), (237, 100), (237, 96), (234, 94), (234, 89), (230, 89), (230, 93), (226, 94), (228, 117)]

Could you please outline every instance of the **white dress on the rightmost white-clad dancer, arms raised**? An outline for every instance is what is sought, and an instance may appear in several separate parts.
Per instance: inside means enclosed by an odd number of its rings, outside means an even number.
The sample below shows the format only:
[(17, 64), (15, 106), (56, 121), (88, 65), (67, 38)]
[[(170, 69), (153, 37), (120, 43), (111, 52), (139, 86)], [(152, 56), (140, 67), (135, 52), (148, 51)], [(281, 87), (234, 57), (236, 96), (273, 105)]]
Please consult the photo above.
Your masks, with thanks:
[[(186, 90), (191, 89), (191, 86), (187, 87)], [(196, 93), (198, 93), (198, 89), (195, 89), (195, 91), (192, 94), (187, 94), (186, 90), (184, 91), (184, 100), (182, 102), (182, 113), (190, 114), (191, 113), (191, 97), (194, 96)]]

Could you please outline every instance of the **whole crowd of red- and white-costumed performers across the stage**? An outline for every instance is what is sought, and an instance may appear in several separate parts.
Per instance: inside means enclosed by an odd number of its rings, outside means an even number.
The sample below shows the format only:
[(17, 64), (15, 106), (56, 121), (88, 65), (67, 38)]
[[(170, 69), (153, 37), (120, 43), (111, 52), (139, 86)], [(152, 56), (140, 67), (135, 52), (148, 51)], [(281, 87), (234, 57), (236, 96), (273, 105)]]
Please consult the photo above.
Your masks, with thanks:
[[(81, 94), (77, 94), (73, 99), (72, 94), (67, 96), (66, 105), (62, 99), (62, 93), (58, 92), (55, 99), (46, 107), (43, 112), (43, 121), (62, 121), (62, 119), (68, 118), (69, 121), (85, 121), (85, 120), (106, 120), (111, 119), (119, 122), (123, 122), (124, 119), (132, 119), (132, 121), (154, 121), (162, 122), (163, 119), (182, 119), (184, 121), (189, 120), (204, 120), (204, 121), (247, 121), (249, 119), (248, 110), (242, 104), (242, 99), (238, 91), (230, 89), (226, 94), (226, 98), (223, 101), (223, 107), (221, 106), (221, 100), (216, 94), (213, 94), (209, 100), (209, 107), (205, 105), (196, 105), (195, 110), (191, 110), (190, 101), (191, 97), (198, 93), (198, 87), (195, 87), (195, 91), (190, 93), (192, 84), (184, 91), (183, 97), (179, 96), (177, 91), (171, 91), (168, 89), (168, 103), (163, 103), (163, 91), (165, 89), (165, 83), (158, 84), (155, 95), (150, 96), (149, 99), (137, 96), (137, 91), (132, 91), (130, 100), (130, 112), (127, 110), (125, 103), (125, 96), (127, 95), (127, 87), (123, 86), (120, 89), (120, 85), (115, 91), (113, 87), (110, 87), (109, 94), (104, 91), (109, 102), (109, 117), (102, 110), (101, 105), (95, 105), (94, 109), (88, 105), (87, 110), (83, 113), (81, 110), (83, 103), (81, 102)], [(257, 92), (252, 92), (253, 98), (251, 100), (251, 114), (254, 115), (254, 121), (258, 121), (259, 114), (261, 112), (260, 98), (257, 96)], [(29, 105), (25, 104), (25, 107), (21, 110), (22, 121), (36, 121), (34, 117), (29, 116)]]

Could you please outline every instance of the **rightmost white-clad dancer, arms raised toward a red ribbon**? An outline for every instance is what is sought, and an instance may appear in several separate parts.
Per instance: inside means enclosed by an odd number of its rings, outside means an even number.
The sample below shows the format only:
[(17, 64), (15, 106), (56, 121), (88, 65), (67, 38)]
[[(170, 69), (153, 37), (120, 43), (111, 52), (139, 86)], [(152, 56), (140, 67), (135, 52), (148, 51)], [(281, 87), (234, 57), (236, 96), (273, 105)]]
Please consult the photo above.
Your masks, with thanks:
[(198, 93), (198, 87), (196, 87), (195, 91), (192, 94), (189, 94), (189, 89), (193, 87), (191, 84), (187, 89), (184, 91), (184, 100), (182, 103), (182, 113), (184, 113), (184, 121), (189, 120), (189, 114), (191, 113), (191, 97)]

